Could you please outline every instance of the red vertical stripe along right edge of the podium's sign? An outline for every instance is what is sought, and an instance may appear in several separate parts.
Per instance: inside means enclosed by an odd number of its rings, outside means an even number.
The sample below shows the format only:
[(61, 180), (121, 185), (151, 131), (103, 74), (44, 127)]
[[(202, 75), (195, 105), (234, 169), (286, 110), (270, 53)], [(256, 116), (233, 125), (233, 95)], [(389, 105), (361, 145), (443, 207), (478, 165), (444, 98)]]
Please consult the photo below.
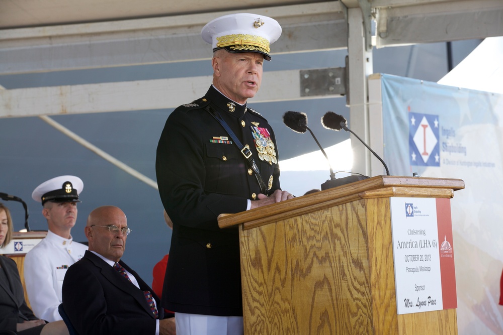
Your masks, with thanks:
[(456, 308), (456, 276), (452, 243), (451, 199), (437, 200), (437, 227), (439, 233), (440, 277), (444, 309)]

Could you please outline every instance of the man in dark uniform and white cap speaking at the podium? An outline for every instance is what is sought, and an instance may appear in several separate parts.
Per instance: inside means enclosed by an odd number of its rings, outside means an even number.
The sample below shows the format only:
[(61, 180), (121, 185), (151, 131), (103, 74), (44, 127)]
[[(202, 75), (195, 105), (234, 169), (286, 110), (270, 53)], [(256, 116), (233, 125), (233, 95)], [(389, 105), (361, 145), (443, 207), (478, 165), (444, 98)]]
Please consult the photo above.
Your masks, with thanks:
[(213, 84), (175, 109), (159, 139), (157, 183), (173, 220), (162, 300), (179, 335), (243, 333), (238, 230), (221, 230), (217, 216), (293, 198), (280, 189), (271, 126), (246, 105), (280, 35), (276, 20), (256, 14), (208, 23)]

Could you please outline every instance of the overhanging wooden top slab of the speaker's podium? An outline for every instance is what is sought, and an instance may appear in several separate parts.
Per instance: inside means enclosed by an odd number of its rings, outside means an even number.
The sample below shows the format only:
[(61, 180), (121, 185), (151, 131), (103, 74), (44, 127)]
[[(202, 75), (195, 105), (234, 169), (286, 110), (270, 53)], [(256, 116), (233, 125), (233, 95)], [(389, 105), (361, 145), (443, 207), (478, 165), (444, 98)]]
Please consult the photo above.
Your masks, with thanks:
[[(220, 214), (218, 226), (228, 228), (244, 223), (254, 225), (254, 222), (262, 221), (265, 217), (270, 222), (281, 217), (292, 217), (310, 210), (372, 197), (452, 198), (454, 191), (463, 188), (465, 188), (465, 183), (461, 179), (375, 176), (248, 211)], [(264, 210), (265, 208), (267, 210)]]

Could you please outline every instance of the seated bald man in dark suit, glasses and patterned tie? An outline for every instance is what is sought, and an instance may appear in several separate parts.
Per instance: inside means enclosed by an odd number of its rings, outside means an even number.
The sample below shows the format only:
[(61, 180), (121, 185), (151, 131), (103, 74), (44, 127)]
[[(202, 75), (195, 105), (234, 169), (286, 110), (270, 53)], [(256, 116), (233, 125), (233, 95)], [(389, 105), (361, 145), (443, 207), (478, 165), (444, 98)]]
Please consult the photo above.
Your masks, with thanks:
[(157, 295), (120, 261), (130, 232), (118, 207), (89, 214), (89, 250), (68, 268), (62, 291), (63, 307), (79, 334), (176, 333), (174, 320), (163, 319)]

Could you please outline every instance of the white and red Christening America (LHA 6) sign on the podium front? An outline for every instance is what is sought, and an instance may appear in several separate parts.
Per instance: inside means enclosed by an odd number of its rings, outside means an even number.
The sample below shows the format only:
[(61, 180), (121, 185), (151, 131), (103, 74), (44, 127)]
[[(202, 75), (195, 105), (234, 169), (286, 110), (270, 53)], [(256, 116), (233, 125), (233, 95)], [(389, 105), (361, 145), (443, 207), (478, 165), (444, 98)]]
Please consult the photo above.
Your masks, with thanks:
[(397, 314), (456, 308), (450, 199), (391, 197)]

